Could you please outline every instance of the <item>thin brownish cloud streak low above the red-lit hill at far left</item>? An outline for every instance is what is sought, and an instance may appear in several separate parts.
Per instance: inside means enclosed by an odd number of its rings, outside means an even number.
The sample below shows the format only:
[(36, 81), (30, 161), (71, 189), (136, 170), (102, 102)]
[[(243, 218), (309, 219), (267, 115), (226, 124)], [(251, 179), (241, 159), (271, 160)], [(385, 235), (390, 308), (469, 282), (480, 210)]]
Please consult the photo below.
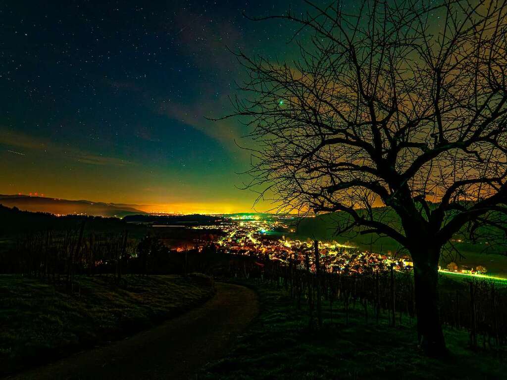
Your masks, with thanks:
[[(126, 166), (132, 163), (117, 157), (103, 156), (87, 150), (55, 144), (49, 139), (33, 137), (26, 133), (0, 127), (0, 144), (15, 148), (16, 153), (26, 156), (27, 151), (44, 151), (60, 157), (67, 157), (72, 160), (89, 165)], [(12, 149), (7, 149), (11, 151)], [(25, 150), (25, 151), (19, 151)]]

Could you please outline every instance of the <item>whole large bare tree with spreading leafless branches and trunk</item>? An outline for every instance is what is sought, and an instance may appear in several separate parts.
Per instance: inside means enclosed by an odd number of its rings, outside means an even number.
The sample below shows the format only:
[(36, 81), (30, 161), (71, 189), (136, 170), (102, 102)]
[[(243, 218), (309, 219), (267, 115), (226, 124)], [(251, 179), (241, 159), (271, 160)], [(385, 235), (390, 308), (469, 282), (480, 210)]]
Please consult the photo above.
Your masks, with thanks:
[(262, 18), (311, 32), (295, 35), (297, 60), (237, 53), (249, 77), (227, 117), (245, 117), (258, 146), (247, 185), (279, 210), (339, 212), (340, 234), (404, 246), (431, 355), (446, 352), (443, 246), (485, 222), (505, 231), (505, 1), (308, 2)]

